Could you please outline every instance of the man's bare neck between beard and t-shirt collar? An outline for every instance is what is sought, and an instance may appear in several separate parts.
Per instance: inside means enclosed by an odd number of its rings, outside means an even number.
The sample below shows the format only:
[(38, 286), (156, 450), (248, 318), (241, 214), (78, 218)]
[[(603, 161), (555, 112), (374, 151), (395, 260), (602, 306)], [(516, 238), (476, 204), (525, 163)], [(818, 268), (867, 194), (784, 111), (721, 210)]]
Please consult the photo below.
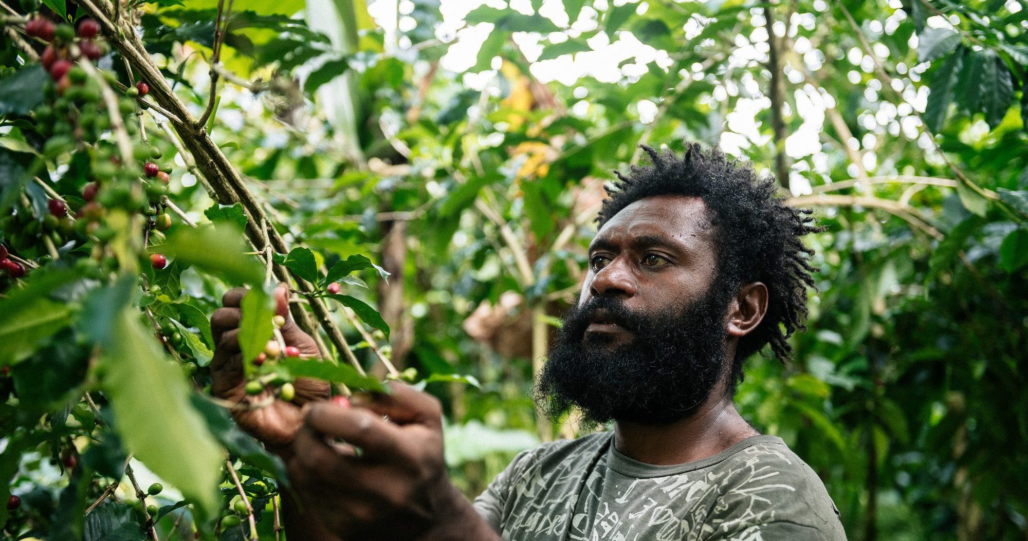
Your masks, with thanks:
[(708, 399), (687, 419), (653, 426), (618, 421), (615, 448), (646, 464), (685, 464), (712, 457), (759, 432), (735, 410), (731, 398)]

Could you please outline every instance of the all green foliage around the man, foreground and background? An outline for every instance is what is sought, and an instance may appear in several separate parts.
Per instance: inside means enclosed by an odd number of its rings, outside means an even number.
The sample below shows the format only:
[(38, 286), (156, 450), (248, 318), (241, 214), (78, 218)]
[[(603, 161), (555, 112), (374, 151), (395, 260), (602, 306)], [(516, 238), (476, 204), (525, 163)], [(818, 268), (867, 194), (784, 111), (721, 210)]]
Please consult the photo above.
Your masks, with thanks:
[[(330, 362), (250, 375), (424, 385), (473, 496), (577, 433), (536, 419), (533, 373), (602, 183), (636, 144), (684, 140), (751, 159), (827, 226), (795, 362), (755, 356), (736, 401), (817, 471), (849, 537), (1028, 534), (1023, 0), (531, 0), (463, 25), (432, 0), (371, 8), (3, 0), (3, 536), (276, 538), (281, 463), (205, 386), (222, 293), (253, 288), (252, 359), (285, 279)], [(39, 66), (50, 39), (83, 56), (63, 76)]]

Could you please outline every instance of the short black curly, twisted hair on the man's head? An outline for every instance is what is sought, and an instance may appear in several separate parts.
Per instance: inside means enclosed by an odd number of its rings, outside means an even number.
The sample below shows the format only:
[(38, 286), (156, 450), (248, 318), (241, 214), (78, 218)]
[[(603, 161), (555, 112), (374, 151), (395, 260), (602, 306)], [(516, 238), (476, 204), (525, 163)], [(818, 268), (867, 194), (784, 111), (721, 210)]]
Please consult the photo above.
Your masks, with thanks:
[(816, 289), (808, 259), (813, 250), (803, 245), (805, 235), (822, 230), (809, 209), (785, 204), (777, 193), (774, 177), (758, 178), (752, 166), (731, 159), (718, 147), (704, 151), (699, 143), (686, 143), (682, 156), (640, 145), (650, 166), (632, 166), (626, 177), (607, 187), (596, 221), (602, 227), (625, 207), (654, 195), (699, 196), (706, 204), (717, 243), (718, 277), (713, 287), (734, 294), (744, 284), (762, 282), (768, 288), (764, 320), (739, 339), (732, 362), (729, 392), (742, 381), (742, 364), (765, 345), (782, 362), (792, 359), (787, 338), (805, 330), (807, 287)]

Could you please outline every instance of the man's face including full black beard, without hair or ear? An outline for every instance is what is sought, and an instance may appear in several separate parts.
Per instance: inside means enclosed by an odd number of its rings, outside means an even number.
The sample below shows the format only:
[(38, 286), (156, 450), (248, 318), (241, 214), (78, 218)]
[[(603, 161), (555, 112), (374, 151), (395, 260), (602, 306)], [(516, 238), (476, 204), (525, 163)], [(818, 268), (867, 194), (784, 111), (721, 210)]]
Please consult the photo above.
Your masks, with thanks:
[(551, 414), (664, 424), (689, 417), (721, 380), (731, 292), (715, 280), (713, 231), (699, 197), (637, 201), (589, 247), (577, 306), (540, 373)]

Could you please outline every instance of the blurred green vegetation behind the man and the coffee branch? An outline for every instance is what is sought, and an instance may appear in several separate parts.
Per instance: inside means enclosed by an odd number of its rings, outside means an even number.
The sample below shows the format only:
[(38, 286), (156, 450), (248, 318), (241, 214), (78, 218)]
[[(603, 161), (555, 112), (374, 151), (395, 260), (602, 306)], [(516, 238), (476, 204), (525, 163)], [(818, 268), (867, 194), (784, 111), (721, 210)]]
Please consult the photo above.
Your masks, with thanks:
[[(215, 5), (141, 4), (196, 113)], [(1024, 539), (1026, 30), (1023, 0), (241, 0), (211, 132), (287, 239), (391, 273), (346, 286), (391, 328), (378, 353), (346, 330), (369, 369), (480, 384), (428, 384), (470, 497), (578, 434), (529, 391), (613, 170), (685, 140), (752, 160), (827, 230), (796, 361), (748, 361), (743, 417), (821, 476), (850, 539)], [(182, 288), (210, 314), (225, 286)]]

